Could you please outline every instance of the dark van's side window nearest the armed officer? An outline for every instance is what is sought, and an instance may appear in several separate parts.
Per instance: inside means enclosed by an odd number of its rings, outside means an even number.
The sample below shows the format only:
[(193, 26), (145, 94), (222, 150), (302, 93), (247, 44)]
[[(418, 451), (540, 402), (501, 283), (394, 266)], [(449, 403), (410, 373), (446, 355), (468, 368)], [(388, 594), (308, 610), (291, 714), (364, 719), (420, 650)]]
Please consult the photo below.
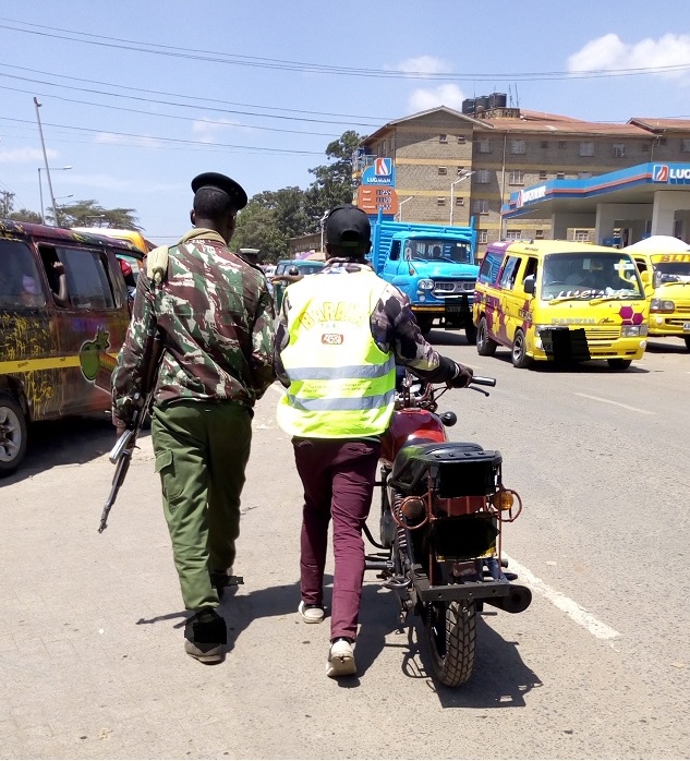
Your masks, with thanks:
[(104, 251), (59, 246), (57, 252), (64, 264), (70, 301), (74, 309), (114, 309), (108, 259)]

